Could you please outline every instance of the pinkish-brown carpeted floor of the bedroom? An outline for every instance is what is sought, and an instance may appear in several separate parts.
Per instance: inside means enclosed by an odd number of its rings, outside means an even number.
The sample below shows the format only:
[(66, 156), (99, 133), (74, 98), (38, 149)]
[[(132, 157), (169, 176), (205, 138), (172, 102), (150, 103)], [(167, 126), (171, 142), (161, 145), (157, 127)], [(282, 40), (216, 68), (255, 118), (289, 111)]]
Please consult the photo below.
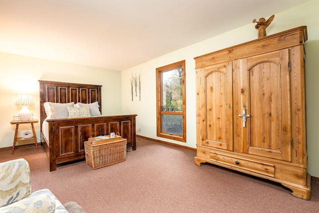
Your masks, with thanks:
[(50, 189), (62, 204), (76, 201), (87, 213), (318, 213), (319, 184), (312, 199), (291, 195), (281, 184), (211, 164), (196, 166), (196, 153), (140, 139), (127, 160), (93, 170), (85, 161), (49, 172), (43, 147), (0, 151), (0, 162), (24, 158), (32, 192)]

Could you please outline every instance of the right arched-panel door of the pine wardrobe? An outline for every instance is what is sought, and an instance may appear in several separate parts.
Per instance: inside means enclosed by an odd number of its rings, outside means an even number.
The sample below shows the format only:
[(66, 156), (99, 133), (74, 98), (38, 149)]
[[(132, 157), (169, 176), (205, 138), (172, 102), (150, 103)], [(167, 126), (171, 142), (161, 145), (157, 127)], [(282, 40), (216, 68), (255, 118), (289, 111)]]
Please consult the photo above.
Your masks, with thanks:
[[(245, 60), (245, 59), (241, 59)], [(289, 49), (247, 58), (242, 70), (241, 104), (244, 153), (291, 161), (291, 98)], [(242, 114), (242, 113), (241, 113)], [(242, 117), (237, 115), (243, 122)], [(239, 125), (239, 124), (238, 124)]]

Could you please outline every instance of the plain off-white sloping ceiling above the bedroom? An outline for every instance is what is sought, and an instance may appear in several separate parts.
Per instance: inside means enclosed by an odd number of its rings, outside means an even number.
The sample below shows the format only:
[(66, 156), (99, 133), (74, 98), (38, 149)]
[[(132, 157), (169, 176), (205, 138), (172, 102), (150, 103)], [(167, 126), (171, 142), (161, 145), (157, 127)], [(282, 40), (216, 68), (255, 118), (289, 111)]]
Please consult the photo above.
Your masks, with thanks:
[(122, 71), (309, 0), (0, 0), (0, 52)]

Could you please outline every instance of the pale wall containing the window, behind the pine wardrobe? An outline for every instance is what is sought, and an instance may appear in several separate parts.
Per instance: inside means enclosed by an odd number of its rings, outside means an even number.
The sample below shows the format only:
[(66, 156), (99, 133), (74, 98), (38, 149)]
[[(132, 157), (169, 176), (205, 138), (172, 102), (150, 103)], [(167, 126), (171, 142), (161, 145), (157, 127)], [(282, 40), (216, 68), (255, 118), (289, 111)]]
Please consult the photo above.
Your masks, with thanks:
[[(267, 16), (266, 16), (267, 15)], [(269, 17), (271, 14), (261, 14)], [(252, 17), (257, 18), (257, 17)], [(307, 25), (308, 41), (305, 45), (306, 58), (306, 96), (307, 96), (307, 137), (308, 137), (308, 172), (319, 177), (319, 0), (312, 0), (289, 10), (275, 14), (275, 19), (267, 28), (267, 34), (274, 34), (294, 27)], [(257, 38), (255, 24), (247, 20), (247, 25), (212, 37), (191, 46), (179, 49), (159, 58), (122, 71), (122, 112), (138, 114), (137, 134), (149, 138), (167, 141), (196, 148), (196, 112), (195, 112), (195, 61), (194, 57), (222, 48), (237, 45)], [(177, 61), (186, 60), (186, 143), (176, 142), (156, 136), (156, 68)], [(142, 100), (131, 97), (132, 74), (141, 73)], [(139, 132), (141, 129), (141, 132)]]

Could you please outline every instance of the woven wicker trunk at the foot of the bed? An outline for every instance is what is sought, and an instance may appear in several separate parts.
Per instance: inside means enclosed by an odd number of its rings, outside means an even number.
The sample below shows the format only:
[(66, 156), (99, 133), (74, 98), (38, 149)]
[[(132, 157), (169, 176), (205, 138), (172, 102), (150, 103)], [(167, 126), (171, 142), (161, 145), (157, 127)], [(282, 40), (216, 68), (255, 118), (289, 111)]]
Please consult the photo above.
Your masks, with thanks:
[(98, 169), (126, 160), (126, 139), (100, 144), (84, 142), (85, 162), (93, 169)]

